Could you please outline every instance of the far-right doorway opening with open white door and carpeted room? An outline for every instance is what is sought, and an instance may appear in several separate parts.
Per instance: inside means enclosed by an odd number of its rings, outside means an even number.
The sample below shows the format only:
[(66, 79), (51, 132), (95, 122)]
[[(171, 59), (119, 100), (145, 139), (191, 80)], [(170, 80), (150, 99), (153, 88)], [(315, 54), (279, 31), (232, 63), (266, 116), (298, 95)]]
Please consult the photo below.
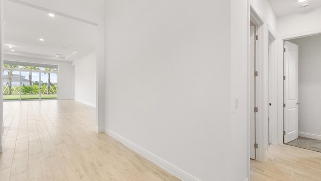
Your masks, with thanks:
[[(293, 107), (297, 110), (295, 116), (288, 113), (287, 109), (287, 92), (291, 88), (284, 86), (284, 137), (285, 144), (296, 146), (304, 149), (321, 152), (321, 116), (318, 110), (319, 105), (319, 91), (321, 87), (321, 76), (319, 74), (319, 59), (321, 55), (319, 48), (321, 47), (321, 35), (310, 35), (299, 38), (292, 38), (284, 41), (284, 75), (286, 82), (287, 78), (297, 81), (295, 90), (297, 92), (297, 100), (293, 102)], [(290, 68), (287, 61), (292, 57), (288, 57), (290, 51), (287, 52), (288, 44), (297, 47), (297, 77), (288, 75), (286, 77), (286, 70)], [(290, 49), (289, 49), (290, 50)], [(286, 84), (285, 84), (286, 85)], [(291, 88), (293, 89), (293, 88)], [(294, 110), (294, 109), (292, 109)], [(296, 130), (295, 130), (296, 129)], [(291, 134), (294, 134), (291, 136)]]

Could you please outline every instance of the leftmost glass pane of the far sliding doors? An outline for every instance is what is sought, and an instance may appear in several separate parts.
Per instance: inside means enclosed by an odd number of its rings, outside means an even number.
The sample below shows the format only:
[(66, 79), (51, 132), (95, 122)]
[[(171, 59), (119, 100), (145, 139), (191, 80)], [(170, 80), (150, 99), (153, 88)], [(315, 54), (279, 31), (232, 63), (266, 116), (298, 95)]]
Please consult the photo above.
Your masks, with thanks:
[(20, 100), (20, 71), (4, 70), (4, 100)]

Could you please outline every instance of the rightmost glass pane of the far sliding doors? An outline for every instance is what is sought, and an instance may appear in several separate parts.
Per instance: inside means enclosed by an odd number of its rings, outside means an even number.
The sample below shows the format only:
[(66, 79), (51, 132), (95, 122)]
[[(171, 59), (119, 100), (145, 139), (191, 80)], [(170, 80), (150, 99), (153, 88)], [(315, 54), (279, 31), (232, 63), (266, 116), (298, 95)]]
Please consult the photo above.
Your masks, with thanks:
[(41, 99), (57, 99), (57, 73), (41, 73)]

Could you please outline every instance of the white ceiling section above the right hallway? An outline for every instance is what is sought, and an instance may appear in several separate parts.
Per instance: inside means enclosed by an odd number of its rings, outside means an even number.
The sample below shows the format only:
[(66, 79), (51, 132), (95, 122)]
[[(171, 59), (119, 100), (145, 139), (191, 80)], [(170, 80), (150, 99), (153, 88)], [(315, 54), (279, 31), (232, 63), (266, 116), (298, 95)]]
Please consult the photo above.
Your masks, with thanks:
[[(314, 8), (321, 7), (321, 0), (268, 0), (276, 17), (282, 17), (293, 13), (310, 11)], [(303, 4), (309, 4), (307, 8), (301, 8)]]

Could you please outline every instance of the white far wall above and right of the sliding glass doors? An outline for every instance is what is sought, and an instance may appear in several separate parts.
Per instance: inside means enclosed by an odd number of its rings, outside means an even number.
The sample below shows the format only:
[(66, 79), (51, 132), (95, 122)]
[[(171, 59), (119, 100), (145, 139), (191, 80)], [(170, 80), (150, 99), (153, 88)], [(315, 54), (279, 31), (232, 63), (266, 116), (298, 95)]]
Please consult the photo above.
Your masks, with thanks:
[(5, 55), (5, 60), (32, 62), (32, 63), (43, 63), (58, 65), (58, 99), (66, 100), (72, 99), (71, 94), (71, 62), (64, 61), (53, 61), (38, 58), (21, 57), (14, 55)]

